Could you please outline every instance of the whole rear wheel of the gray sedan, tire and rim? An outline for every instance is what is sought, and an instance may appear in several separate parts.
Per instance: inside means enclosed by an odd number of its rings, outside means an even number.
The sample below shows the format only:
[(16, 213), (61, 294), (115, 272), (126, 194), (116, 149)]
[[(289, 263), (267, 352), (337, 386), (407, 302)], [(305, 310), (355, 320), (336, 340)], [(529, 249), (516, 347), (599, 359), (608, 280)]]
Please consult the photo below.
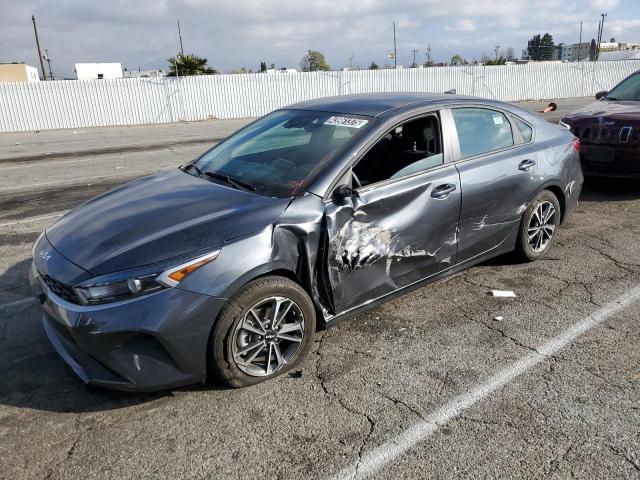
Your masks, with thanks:
[(549, 190), (541, 191), (522, 215), (515, 255), (525, 262), (544, 257), (555, 240), (560, 215), (558, 198)]

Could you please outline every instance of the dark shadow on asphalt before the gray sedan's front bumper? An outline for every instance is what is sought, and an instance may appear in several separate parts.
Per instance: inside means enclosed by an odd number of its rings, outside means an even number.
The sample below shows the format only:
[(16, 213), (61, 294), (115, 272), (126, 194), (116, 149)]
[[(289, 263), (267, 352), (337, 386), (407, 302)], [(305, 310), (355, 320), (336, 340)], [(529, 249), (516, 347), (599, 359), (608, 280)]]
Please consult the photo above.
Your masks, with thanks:
[[(3, 297), (30, 297), (24, 260), (0, 275)], [(84, 413), (130, 407), (173, 391), (128, 393), (85, 385), (58, 356), (44, 332), (37, 301), (0, 302), (0, 404), (49, 412)]]

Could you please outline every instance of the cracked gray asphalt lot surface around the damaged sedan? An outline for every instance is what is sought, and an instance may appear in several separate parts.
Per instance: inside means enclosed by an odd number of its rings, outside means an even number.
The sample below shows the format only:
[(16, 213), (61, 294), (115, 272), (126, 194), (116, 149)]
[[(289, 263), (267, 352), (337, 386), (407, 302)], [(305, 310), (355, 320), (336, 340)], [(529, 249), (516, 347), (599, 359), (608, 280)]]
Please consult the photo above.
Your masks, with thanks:
[[(377, 447), (640, 284), (640, 184), (588, 179), (545, 259), (500, 257), (319, 331), (298, 371), (242, 390), (86, 387), (29, 299), (31, 244), (62, 212), (193, 158), (241, 123), (83, 130), (75, 144), (60, 140), (70, 132), (0, 136), (0, 478), (355, 473)], [(96, 153), (141, 139), (157, 145)], [(638, 302), (608, 316), (376, 478), (640, 478), (639, 323)]]

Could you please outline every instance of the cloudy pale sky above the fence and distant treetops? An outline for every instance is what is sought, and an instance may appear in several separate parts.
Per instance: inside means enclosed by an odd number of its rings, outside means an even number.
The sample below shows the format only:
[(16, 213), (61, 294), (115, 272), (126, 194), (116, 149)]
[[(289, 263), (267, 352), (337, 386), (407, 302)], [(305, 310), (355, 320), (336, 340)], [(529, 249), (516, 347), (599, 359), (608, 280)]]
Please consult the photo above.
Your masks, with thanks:
[(536, 33), (556, 43), (595, 37), (640, 42), (640, 0), (0, 0), (0, 61), (37, 65), (31, 15), (56, 77), (75, 78), (76, 62), (121, 62), (129, 69), (166, 68), (179, 49), (204, 56), (220, 71), (260, 62), (297, 68), (308, 49), (333, 68), (389, 62), (396, 21), (398, 63), (419, 61), (427, 45), (435, 61), (459, 53), (516, 54)]

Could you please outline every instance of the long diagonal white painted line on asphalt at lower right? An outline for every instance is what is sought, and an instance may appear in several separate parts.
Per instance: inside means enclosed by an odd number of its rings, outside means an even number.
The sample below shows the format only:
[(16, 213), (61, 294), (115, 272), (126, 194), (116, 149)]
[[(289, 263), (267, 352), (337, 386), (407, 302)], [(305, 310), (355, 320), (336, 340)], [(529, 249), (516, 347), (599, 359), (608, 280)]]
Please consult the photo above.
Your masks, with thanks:
[(582, 321), (573, 324), (560, 335), (538, 347), (536, 351), (532, 351), (509, 367), (500, 370), (474, 389), (453, 398), (444, 406), (426, 416), (424, 420), (416, 423), (379, 447), (374, 448), (365, 454), (360, 462), (350, 465), (332, 478), (334, 480), (361, 479), (374, 475), (385, 465), (415, 447), (419, 442), (429, 437), (438, 430), (438, 428), (456, 418), (465, 410), (471, 408), (479, 401), (484, 400), (520, 375), (528, 372), (548, 357), (558, 353), (581, 335), (597, 327), (612, 315), (615, 315), (638, 300), (640, 300), (640, 285), (597, 309)]

